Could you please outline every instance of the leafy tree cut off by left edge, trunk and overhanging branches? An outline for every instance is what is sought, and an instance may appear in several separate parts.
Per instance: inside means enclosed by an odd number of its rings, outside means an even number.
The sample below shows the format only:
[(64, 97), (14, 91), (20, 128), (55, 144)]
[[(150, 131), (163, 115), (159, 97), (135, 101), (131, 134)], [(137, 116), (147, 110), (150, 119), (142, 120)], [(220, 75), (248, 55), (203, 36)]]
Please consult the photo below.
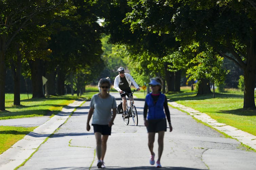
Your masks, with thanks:
[(6, 75), (6, 51), (16, 35), (36, 15), (45, 10), (55, 8), (59, 1), (49, 0), (34, 2), (25, 0), (20, 3), (17, 0), (3, 0), (0, 2), (0, 110), (5, 110), (5, 75)]

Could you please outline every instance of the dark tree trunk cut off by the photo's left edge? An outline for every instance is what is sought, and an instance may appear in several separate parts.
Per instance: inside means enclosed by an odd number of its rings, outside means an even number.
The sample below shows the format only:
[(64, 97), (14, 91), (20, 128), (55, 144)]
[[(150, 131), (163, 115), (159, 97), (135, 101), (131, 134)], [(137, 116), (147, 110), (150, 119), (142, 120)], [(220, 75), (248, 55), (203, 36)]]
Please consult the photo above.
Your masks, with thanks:
[(5, 111), (5, 35), (0, 37), (0, 111)]

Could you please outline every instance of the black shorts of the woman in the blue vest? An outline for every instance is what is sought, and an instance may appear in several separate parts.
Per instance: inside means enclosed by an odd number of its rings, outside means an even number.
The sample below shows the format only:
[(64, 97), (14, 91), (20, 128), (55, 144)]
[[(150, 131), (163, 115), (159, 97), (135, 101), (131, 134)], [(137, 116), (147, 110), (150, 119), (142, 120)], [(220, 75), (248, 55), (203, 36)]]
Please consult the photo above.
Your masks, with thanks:
[(148, 120), (148, 132), (159, 132), (159, 131), (166, 131), (167, 124), (166, 119), (152, 119)]

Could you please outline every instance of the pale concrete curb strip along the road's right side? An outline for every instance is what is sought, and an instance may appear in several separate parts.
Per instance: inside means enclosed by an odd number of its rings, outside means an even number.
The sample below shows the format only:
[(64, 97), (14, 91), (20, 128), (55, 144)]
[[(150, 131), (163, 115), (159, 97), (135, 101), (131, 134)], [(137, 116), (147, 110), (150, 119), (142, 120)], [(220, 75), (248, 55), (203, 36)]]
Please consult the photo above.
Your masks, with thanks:
[(205, 113), (201, 113), (199, 111), (194, 110), (193, 108), (186, 107), (182, 104), (178, 104), (176, 102), (168, 102), (173, 107), (177, 107), (182, 111), (189, 113), (191, 116), (194, 116), (196, 119), (201, 120), (202, 122), (207, 123), (208, 125), (214, 127), (215, 129), (226, 133), (227, 135), (231, 136), (232, 138), (237, 139), (239, 142), (248, 145), (249, 147), (256, 150), (256, 136), (239, 130), (235, 127), (226, 125), (224, 123), (218, 123), (217, 120), (212, 119)]

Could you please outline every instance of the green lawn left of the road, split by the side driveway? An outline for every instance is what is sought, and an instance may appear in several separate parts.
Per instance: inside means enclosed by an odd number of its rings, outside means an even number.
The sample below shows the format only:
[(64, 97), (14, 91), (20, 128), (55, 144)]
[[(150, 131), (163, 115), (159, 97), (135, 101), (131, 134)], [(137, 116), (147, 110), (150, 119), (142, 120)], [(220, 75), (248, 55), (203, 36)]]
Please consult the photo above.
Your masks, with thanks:
[[(55, 115), (62, 110), (62, 107), (78, 99), (77, 96), (71, 95), (32, 99), (31, 94), (29, 94), (28, 99), (27, 94), (21, 94), (21, 106), (14, 106), (13, 97), (13, 94), (5, 94), (6, 111), (0, 112), (0, 120)], [(82, 97), (86, 97), (86, 95)], [(0, 154), (10, 148), (14, 143), (24, 138), (26, 134), (33, 131), (35, 128), (36, 127), (0, 126)]]

